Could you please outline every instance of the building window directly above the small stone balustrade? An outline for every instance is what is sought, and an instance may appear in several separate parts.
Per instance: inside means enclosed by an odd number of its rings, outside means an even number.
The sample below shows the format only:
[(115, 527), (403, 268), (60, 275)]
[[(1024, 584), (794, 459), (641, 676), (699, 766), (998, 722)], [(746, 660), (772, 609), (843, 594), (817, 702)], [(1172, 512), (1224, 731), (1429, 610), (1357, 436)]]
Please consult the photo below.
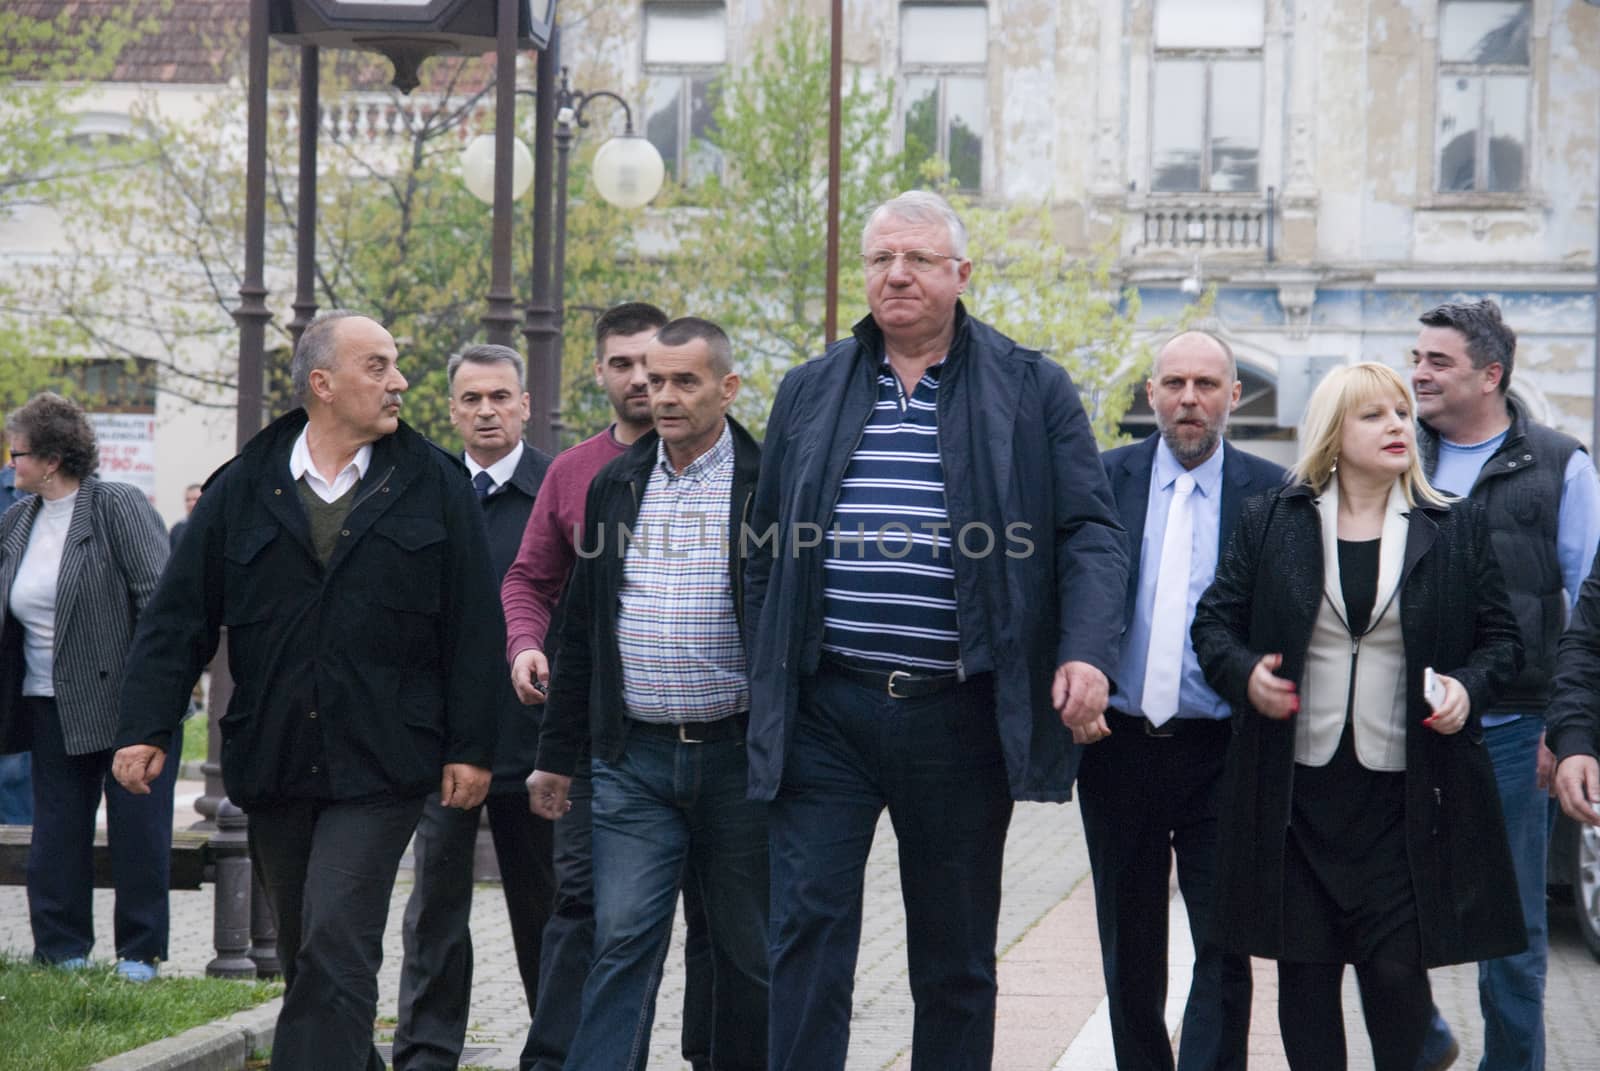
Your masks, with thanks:
[(1157, 0), (1150, 189), (1261, 189), (1262, 0)]

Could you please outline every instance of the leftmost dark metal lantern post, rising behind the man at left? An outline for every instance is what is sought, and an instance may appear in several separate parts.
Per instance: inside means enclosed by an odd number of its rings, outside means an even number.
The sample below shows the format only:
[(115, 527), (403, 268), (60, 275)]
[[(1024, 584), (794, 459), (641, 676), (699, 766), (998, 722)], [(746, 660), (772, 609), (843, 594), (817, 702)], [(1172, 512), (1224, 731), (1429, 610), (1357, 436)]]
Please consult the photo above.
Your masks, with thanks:
[(245, 118), (245, 279), (238, 285), (238, 400), (234, 442), (243, 448), (261, 431), (261, 376), (267, 323), (264, 280), (267, 237), (267, 0), (250, 0), (250, 86)]

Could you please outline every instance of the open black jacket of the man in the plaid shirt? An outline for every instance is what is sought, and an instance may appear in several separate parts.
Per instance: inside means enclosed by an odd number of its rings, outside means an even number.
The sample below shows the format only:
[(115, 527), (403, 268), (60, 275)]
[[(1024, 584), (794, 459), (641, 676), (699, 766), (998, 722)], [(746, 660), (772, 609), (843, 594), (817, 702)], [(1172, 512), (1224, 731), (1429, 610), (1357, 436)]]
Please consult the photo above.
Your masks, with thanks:
[[(728, 499), (728, 583), (733, 610), (742, 610), (742, 573), (749, 522), (762, 448), (736, 419), (733, 429), (733, 488)], [(627, 704), (622, 700), (622, 658), (616, 647), (616, 610), (622, 591), (618, 533), (632, 530), (656, 464), (656, 432), (646, 432), (589, 483), (584, 535), (578, 564), (562, 597), (555, 671), (539, 735), (539, 768), (571, 775), (590, 752), (614, 762), (627, 746)], [(741, 620), (742, 631), (742, 620)]]

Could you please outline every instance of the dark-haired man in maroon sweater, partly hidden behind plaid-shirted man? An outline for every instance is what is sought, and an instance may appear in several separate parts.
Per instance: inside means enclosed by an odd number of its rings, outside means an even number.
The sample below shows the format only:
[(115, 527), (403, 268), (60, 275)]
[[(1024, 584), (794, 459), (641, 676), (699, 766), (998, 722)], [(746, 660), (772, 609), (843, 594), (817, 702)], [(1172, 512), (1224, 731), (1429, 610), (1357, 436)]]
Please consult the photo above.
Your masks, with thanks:
[[(566, 580), (578, 562), (574, 541), (584, 525), (584, 496), (605, 464), (650, 431), (645, 346), (667, 323), (667, 314), (643, 301), (606, 309), (595, 320), (595, 384), (616, 415), (597, 435), (563, 451), (550, 464), (533, 504), (517, 560), (506, 572), (506, 658), (523, 703), (544, 703), (550, 661), (546, 636)], [(550, 637), (554, 639), (554, 637)], [(536, 682), (539, 687), (536, 687)], [(560, 1071), (578, 1029), (584, 978), (594, 962), (594, 874), (590, 866), (589, 764), (573, 770), (571, 810), (555, 824), (555, 911), (544, 930), (539, 1004), (522, 1050), (522, 1071)], [(685, 986), (683, 1058), (694, 1071), (710, 1066), (710, 941), (698, 888), (683, 888)]]

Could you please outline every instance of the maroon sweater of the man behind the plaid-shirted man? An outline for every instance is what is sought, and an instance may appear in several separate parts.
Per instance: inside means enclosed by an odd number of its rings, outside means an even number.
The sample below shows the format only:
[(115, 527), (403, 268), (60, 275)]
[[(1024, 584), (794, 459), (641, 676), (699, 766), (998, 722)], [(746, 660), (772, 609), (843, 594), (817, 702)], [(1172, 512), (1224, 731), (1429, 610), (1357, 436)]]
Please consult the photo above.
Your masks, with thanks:
[(544, 650), (550, 615), (578, 560), (574, 548), (584, 528), (589, 483), (611, 458), (627, 451), (613, 435), (614, 427), (613, 424), (562, 451), (539, 483), (539, 496), (533, 499), (517, 560), (506, 570), (501, 583), (507, 663), (528, 648)]

